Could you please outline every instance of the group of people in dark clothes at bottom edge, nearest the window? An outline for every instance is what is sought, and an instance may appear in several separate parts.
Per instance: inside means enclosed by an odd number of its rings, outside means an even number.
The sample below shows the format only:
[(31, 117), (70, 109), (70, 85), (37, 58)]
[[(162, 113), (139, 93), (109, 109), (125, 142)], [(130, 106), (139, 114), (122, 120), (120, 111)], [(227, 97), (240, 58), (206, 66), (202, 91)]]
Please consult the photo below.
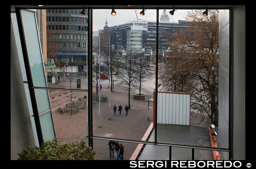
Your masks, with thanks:
[(115, 158), (114, 157), (114, 150), (115, 150), (116, 151), (116, 160), (118, 160), (119, 158), (121, 160), (124, 159), (124, 157), (123, 157), (123, 155), (124, 155), (124, 146), (122, 144), (119, 144), (118, 141), (109, 141), (108, 146), (109, 146), (110, 158), (111, 158), (111, 154), (112, 154), (112, 157)]

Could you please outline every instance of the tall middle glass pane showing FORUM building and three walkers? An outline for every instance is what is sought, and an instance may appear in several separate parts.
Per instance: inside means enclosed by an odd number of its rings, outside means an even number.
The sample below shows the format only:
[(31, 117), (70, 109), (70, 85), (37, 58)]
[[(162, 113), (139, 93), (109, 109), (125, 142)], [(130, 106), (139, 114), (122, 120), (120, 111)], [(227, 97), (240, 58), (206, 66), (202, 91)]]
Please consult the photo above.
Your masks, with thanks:
[(146, 35), (152, 34), (148, 20), (156, 20), (156, 10), (148, 9), (147, 17), (138, 14), (139, 20), (135, 11), (141, 9), (115, 11), (112, 16), (111, 9), (93, 10), (93, 135), (140, 141), (153, 125), (155, 78), (149, 58), (156, 44), (153, 35), (148, 45)]

